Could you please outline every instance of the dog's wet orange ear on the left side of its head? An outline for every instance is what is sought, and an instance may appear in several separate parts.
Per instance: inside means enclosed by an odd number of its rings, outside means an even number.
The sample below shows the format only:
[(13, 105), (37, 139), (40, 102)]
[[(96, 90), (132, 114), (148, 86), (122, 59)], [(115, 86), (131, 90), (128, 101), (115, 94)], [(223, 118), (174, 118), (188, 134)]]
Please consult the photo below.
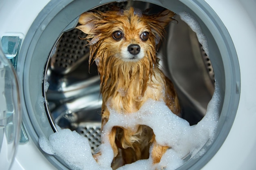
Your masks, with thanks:
[(79, 26), (76, 26), (76, 29), (80, 29), (86, 34), (96, 35), (94, 31), (95, 25), (102, 19), (102, 16), (94, 12), (85, 12), (80, 15)]

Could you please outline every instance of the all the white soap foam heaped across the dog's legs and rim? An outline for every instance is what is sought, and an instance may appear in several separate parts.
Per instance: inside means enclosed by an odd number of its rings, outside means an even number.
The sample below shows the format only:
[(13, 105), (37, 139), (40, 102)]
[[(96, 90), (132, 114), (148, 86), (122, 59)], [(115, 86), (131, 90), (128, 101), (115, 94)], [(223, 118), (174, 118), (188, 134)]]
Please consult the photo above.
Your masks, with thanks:
[[(110, 117), (102, 133), (101, 155), (98, 162), (92, 157), (89, 141), (69, 129), (59, 130), (39, 140), (40, 147), (50, 155), (60, 157), (72, 170), (111, 170), (113, 150), (108, 141), (112, 127), (135, 128), (137, 124), (147, 125), (153, 129), (157, 144), (169, 146), (161, 161), (153, 165), (151, 157), (121, 166), (117, 170), (175, 170), (185, 161), (184, 157), (199, 157), (204, 154), (202, 147), (209, 145), (214, 139), (218, 123), (218, 88), (208, 104), (207, 113), (198, 124), (190, 126), (189, 122), (173, 114), (163, 101), (148, 99), (135, 113), (118, 113), (112, 108)], [(152, 146), (150, 148), (151, 152)], [(193, 159), (193, 158), (192, 158)]]

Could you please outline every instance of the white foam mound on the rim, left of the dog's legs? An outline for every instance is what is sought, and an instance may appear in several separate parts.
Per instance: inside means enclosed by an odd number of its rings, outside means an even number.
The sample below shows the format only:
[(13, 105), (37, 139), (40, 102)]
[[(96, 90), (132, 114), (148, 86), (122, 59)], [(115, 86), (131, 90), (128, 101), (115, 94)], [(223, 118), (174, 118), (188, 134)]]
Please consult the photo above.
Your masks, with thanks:
[(72, 170), (112, 170), (99, 166), (92, 157), (88, 139), (76, 131), (62, 129), (50, 135), (49, 140), (40, 137), (39, 145), (47, 154), (56, 155), (65, 161)]

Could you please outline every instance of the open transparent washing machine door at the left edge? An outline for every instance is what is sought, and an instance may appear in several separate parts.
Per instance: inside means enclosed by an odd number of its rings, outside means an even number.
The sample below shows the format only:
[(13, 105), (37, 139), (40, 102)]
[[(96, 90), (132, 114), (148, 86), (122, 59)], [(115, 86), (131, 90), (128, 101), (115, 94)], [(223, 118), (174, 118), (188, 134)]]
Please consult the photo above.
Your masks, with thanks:
[(0, 165), (9, 170), (20, 136), (20, 95), (15, 70), (0, 46)]

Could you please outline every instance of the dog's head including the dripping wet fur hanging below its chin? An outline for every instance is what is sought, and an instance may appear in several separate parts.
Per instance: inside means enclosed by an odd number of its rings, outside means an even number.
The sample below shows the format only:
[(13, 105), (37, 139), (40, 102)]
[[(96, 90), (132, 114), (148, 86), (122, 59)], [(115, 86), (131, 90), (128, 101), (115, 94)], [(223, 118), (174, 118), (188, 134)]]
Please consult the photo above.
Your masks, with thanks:
[(156, 46), (174, 15), (169, 10), (145, 15), (132, 7), (83, 13), (79, 18), (81, 25), (76, 28), (88, 34), (85, 39), (90, 45), (89, 60), (94, 58), (101, 83), (108, 77), (119, 81), (122, 76), (127, 82), (135, 73), (147, 82), (157, 64)]

